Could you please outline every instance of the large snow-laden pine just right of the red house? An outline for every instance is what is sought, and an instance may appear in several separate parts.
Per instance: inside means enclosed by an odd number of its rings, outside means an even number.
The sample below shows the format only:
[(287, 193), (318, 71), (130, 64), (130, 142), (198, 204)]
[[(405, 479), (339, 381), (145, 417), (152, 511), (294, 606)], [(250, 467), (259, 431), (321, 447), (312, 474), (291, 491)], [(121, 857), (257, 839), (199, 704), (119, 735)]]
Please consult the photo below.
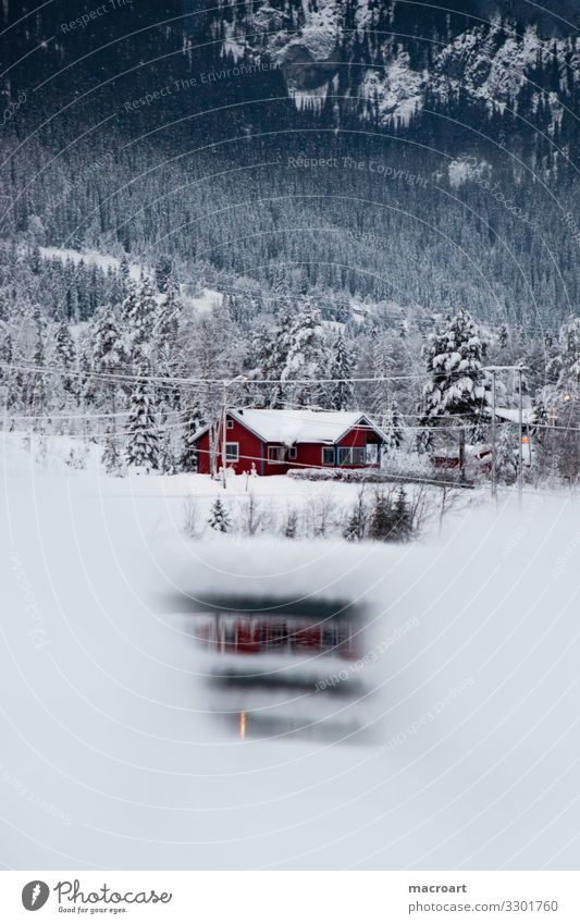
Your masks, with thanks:
[(461, 415), (476, 420), (481, 415), (490, 402), (482, 368), (485, 352), (479, 328), (465, 308), (430, 334), (423, 346), (430, 377), (423, 392), (427, 419)]

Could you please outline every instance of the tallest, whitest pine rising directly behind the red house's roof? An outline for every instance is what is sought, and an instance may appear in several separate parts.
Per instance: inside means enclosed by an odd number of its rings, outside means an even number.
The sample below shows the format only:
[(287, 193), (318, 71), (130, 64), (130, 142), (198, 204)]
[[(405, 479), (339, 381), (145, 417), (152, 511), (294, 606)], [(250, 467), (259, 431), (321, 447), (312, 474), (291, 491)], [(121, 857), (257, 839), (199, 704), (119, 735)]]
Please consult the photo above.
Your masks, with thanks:
[(320, 313), (304, 296), (288, 331), (288, 352), (281, 379), (284, 394), (297, 407), (316, 405), (322, 397), (319, 380), (328, 378), (328, 350)]

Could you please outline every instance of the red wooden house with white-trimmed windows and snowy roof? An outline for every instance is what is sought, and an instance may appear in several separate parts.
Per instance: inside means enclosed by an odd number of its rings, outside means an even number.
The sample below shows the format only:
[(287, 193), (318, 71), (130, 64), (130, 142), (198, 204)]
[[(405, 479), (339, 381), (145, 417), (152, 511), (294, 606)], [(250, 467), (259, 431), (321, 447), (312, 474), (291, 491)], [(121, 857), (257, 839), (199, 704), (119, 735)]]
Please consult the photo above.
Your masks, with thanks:
[[(225, 461), (236, 475), (285, 475), (291, 468), (378, 468), (386, 440), (360, 411), (229, 409), (225, 420)], [(222, 466), (222, 423), (215, 426), (215, 467)], [(198, 471), (212, 470), (210, 427), (194, 438)], [(215, 453), (215, 451), (213, 451)]]

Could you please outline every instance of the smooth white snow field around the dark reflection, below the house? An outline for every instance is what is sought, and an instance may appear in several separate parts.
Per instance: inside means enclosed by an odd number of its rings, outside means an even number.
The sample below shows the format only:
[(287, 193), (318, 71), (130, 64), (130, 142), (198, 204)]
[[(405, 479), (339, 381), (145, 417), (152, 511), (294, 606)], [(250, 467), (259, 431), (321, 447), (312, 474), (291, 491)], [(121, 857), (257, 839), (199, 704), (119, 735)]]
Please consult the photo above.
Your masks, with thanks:
[[(195, 540), (208, 478), (0, 445), (5, 867), (578, 867), (576, 498), (506, 493), (418, 545)], [(276, 505), (320, 492), (255, 482)], [(170, 603), (215, 593), (363, 604), (365, 739), (217, 723)]]

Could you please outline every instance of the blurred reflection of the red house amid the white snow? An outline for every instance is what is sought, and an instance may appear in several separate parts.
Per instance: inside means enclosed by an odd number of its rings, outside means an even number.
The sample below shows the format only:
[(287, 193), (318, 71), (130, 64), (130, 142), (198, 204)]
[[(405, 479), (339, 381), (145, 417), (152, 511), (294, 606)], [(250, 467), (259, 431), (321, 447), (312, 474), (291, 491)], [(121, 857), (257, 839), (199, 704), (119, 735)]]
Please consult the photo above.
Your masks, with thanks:
[(215, 718), (239, 739), (361, 740), (362, 614), (344, 603), (260, 604), (215, 601), (188, 617)]

